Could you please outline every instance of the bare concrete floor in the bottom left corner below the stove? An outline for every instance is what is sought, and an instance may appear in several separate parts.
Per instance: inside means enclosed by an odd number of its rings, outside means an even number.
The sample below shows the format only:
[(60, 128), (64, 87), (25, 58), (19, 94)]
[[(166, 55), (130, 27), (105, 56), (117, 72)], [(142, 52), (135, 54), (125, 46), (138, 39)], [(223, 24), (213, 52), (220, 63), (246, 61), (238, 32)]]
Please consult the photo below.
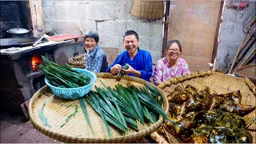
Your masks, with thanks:
[(35, 130), (25, 116), (1, 113), (1, 143), (59, 143)]

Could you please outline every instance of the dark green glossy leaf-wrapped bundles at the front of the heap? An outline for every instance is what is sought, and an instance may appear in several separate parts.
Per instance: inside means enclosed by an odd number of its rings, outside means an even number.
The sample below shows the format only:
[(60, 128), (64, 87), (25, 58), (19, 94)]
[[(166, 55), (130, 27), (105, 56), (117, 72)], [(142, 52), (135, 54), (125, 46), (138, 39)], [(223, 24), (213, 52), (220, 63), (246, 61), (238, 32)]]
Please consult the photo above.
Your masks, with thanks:
[[(196, 114), (194, 121), (202, 123), (202, 125), (194, 128), (191, 137), (186, 138), (183, 142), (252, 142), (252, 136), (244, 128), (245, 122), (237, 114), (223, 112), (222, 110), (202, 111)], [(194, 125), (194, 127), (196, 126)]]

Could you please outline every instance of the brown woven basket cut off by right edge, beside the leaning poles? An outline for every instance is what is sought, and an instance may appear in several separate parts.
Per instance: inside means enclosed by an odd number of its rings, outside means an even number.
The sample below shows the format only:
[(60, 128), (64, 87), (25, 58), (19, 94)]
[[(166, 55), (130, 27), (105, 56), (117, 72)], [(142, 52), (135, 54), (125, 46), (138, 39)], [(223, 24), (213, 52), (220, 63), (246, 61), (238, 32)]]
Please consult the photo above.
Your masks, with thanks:
[(256, 84), (256, 63), (239, 67), (234, 71), (234, 74), (238, 75), (239, 77), (250, 78), (250, 80)]

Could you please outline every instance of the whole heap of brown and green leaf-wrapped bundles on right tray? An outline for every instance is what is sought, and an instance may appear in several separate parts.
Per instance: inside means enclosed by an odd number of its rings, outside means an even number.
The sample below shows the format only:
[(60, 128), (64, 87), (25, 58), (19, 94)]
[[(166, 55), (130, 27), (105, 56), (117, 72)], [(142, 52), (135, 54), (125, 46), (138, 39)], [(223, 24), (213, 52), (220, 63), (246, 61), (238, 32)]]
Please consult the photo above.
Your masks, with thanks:
[(168, 117), (174, 119), (176, 125), (165, 122), (157, 131), (167, 142), (170, 142), (170, 134), (186, 143), (252, 142), (243, 116), (254, 111), (256, 106), (241, 104), (240, 90), (210, 94), (209, 87), (198, 91), (190, 85), (177, 86), (167, 98), (170, 103)]

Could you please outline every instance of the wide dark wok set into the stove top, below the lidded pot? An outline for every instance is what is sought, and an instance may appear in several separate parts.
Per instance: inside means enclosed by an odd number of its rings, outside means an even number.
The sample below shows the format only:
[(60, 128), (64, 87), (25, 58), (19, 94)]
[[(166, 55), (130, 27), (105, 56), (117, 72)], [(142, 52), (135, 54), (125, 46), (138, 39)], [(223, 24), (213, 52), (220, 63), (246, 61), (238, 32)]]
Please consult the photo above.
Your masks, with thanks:
[[(0, 49), (10, 47), (32, 46), (40, 38), (2, 38), (0, 39)], [(42, 42), (49, 42), (47, 38), (42, 38)]]

